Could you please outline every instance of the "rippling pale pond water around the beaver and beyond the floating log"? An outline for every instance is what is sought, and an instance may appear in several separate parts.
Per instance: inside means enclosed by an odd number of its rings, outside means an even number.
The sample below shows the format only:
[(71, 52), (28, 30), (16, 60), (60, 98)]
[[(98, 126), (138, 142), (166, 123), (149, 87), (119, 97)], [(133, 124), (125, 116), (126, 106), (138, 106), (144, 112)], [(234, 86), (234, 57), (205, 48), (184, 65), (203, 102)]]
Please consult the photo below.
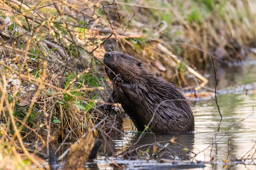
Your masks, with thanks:
[[(234, 76), (234, 70), (236, 75)], [(239, 71), (240, 70), (240, 71)], [(221, 88), (226, 88), (235, 85), (244, 85), (256, 81), (256, 67), (244, 66), (237, 68), (230, 68), (225, 70), (225, 74), (218, 78), (218, 85)], [(230, 86), (227, 86), (227, 82), (231, 82)], [(223, 82), (223, 84), (221, 84)], [(211, 100), (192, 102), (192, 110), (195, 116), (195, 133), (192, 134), (146, 134), (136, 146), (142, 146), (145, 144), (151, 144), (154, 142), (163, 142), (172, 139), (176, 136), (176, 141), (188, 148), (194, 153), (199, 153), (195, 160), (198, 161), (210, 161), (212, 156), (215, 164), (205, 164), (204, 169), (232, 169), (232, 170), (255, 170), (256, 165), (244, 165), (244, 164), (231, 164), (224, 166), (223, 159), (232, 160), (239, 159), (245, 155), (244, 158), (253, 156), (256, 159), (256, 147), (253, 147), (256, 142), (256, 113), (253, 113), (253, 108), (256, 107), (256, 94), (224, 94), (218, 96), (218, 103), (220, 106), (221, 114), (223, 116), (220, 122), (220, 115), (216, 107), (215, 102)], [(255, 108), (256, 109), (256, 108)], [(254, 111), (256, 112), (256, 111)], [(136, 142), (141, 133), (131, 130), (131, 121), (126, 118), (124, 121), (125, 135), (115, 139), (115, 143), (108, 142), (105, 144), (104, 149), (100, 153), (101, 156), (108, 155), (114, 156), (122, 153), (130, 144)], [(229, 141), (229, 144), (228, 144)], [(166, 142), (163, 143), (163, 145)], [(175, 156), (180, 159), (190, 159), (194, 154), (188, 154), (182, 147), (176, 144), (170, 144), (169, 148), (172, 149)], [(152, 150), (152, 148), (151, 148)], [(201, 152), (200, 151), (203, 151)], [(249, 151), (249, 153), (247, 153)], [(162, 158), (172, 159), (170, 153), (161, 155)], [(176, 157), (177, 158), (177, 157)], [(134, 158), (135, 159), (135, 158)], [(159, 158), (157, 159), (159, 160)], [(145, 161), (145, 159), (144, 159)], [(99, 169), (113, 169), (112, 166), (104, 163), (105, 161), (97, 161)], [(151, 164), (157, 164), (157, 161), (143, 162), (135, 160), (122, 161), (114, 160), (116, 163), (126, 164), (124, 167), (130, 169), (141, 168), (141, 165), (149, 166)], [(256, 160), (254, 160), (256, 163)], [(150, 166), (149, 166), (150, 167)], [(154, 167), (152, 169), (164, 169), (163, 167)], [(176, 169), (177, 167), (167, 166), (166, 169)], [(193, 168), (192, 166), (186, 166), (181, 168)], [(194, 168), (193, 168), (194, 169)], [(200, 169), (200, 168), (195, 168)]]

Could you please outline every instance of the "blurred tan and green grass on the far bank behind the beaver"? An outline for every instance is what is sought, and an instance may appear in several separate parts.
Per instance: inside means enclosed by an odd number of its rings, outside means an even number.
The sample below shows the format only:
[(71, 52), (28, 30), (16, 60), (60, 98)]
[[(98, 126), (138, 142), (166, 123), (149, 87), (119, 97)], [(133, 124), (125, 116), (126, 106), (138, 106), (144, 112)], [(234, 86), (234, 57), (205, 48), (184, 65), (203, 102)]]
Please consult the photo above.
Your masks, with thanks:
[[(211, 63), (210, 52), (215, 52), (214, 57), (223, 62), (242, 60), (247, 51), (244, 53), (241, 48), (253, 45), (256, 38), (254, 0), (116, 2), (123, 6), (121, 15), (131, 18), (135, 14), (130, 27), (143, 31), (151, 42), (160, 38), (166, 47), (192, 65)], [(147, 46), (151, 42), (145, 41), (145, 36), (142, 41)]]

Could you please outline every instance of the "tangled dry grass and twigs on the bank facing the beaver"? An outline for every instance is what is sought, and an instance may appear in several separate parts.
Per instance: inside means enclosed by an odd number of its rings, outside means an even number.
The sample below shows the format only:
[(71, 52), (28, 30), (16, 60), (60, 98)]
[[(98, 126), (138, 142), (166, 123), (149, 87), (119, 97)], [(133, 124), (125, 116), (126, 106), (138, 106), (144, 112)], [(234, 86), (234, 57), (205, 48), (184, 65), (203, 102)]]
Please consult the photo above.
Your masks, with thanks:
[[(49, 150), (50, 141), (64, 139), (69, 131), (70, 137), (79, 138), (84, 128), (100, 120), (88, 111), (102, 101), (106, 96), (102, 90), (109, 86), (93, 59), (105, 54), (101, 43), (106, 37), (93, 37), (108, 24), (89, 14), (99, 8), (96, 2), (0, 3), (4, 18), (0, 25), (0, 122), (6, 126), (1, 145), (23, 151), (25, 156), (17, 164), (28, 160), (42, 167), (29, 152)], [(79, 17), (71, 15), (74, 12)], [(77, 21), (81, 17), (86, 21)]]

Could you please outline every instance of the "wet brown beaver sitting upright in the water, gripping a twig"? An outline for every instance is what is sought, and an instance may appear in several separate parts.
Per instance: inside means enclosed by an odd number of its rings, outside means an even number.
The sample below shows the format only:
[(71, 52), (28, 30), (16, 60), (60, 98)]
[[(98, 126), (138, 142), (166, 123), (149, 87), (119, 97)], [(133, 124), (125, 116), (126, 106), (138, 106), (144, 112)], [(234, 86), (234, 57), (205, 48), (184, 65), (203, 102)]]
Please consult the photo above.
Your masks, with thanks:
[[(113, 85), (106, 102), (120, 103), (137, 130), (194, 131), (194, 116), (189, 102), (175, 85), (149, 73), (140, 60), (129, 54), (107, 52), (103, 63), (116, 74), (105, 67)], [(105, 105), (105, 109), (111, 107)]]

